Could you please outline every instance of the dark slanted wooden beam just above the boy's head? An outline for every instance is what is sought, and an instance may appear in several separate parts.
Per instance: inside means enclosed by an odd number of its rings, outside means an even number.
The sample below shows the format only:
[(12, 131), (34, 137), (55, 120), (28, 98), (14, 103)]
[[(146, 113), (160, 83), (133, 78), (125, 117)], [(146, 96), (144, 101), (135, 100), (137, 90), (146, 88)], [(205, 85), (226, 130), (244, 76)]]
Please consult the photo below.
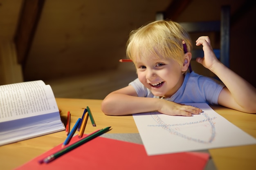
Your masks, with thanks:
[(164, 13), (164, 19), (176, 20), (192, 0), (173, 0)]

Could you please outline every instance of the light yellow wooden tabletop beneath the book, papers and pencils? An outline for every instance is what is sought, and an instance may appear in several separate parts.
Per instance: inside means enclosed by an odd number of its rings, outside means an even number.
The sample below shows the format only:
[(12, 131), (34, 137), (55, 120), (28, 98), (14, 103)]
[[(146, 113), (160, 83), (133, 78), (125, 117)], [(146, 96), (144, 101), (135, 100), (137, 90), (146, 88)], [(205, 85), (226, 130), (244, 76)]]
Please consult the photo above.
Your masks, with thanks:
[[(91, 122), (88, 121), (89, 126), (86, 126), (85, 133), (90, 133), (106, 126), (112, 127), (112, 130), (108, 133), (138, 133), (131, 115), (104, 115), (101, 111), (102, 100), (56, 98), (56, 101), (58, 108), (61, 110), (63, 122), (66, 120), (67, 111), (70, 111), (71, 127), (82, 116), (86, 106), (90, 107), (97, 126), (90, 126)], [(242, 113), (221, 106), (212, 106), (212, 108), (231, 123), (256, 138), (255, 114)], [(0, 146), (0, 169), (11, 170), (16, 168), (54, 146), (63, 143), (66, 137), (65, 131), (62, 131)], [(256, 145), (210, 149), (209, 152), (218, 170), (256, 169)]]

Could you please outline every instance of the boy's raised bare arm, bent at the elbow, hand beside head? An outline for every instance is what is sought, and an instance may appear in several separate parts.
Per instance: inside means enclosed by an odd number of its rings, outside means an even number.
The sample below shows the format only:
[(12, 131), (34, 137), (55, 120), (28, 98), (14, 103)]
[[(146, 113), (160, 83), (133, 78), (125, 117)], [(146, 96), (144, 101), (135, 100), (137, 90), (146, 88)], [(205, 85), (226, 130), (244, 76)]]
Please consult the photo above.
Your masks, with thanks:
[(197, 62), (216, 74), (226, 86), (220, 92), (218, 103), (242, 112), (256, 113), (256, 88), (216, 58), (209, 37), (198, 38), (196, 45), (202, 45), (204, 50), (204, 58), (197, 58)]

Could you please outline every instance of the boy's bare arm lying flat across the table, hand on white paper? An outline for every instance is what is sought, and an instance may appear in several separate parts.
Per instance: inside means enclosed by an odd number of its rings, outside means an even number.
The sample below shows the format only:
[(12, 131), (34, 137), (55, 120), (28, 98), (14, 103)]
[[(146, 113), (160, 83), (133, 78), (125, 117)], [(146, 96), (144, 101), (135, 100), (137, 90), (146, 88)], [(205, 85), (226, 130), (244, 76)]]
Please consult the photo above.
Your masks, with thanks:
[(130, 115), (157, 110), (166, 115), (191, 116), (202, 112), (199, 108), (164, 99), (137, 97), (132, 86), (126, 86), (106, 96), (101, 104), (101, 110), (106, 115)]

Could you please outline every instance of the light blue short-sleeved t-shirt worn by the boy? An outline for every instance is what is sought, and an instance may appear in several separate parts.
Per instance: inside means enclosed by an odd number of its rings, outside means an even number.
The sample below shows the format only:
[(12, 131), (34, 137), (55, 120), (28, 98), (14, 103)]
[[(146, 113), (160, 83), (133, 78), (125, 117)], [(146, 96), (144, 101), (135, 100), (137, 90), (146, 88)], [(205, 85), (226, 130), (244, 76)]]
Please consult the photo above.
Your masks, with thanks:
[[(146, 88), (139, 79), (130, 82), (139, 97), (154, 97), (151, 91)], [(176, 103), (207, 103), (218, 104), (220, 91), (225, 85), (216, 79), (198, 75), (195, 72), (186, 73), (184, 82), (179, 90), (169, 98), (168, 101)]]

